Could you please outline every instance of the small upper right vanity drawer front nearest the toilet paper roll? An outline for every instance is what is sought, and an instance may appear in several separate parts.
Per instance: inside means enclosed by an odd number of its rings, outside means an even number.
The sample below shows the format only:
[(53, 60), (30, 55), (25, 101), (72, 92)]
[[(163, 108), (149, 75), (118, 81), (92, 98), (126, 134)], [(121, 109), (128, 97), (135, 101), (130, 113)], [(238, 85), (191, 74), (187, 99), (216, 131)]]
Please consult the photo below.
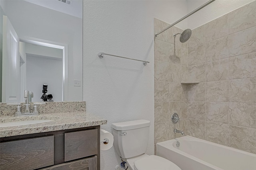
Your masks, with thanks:
[(64, 161), (83, 158), (98, 153), (98, 130), (65, 133)]

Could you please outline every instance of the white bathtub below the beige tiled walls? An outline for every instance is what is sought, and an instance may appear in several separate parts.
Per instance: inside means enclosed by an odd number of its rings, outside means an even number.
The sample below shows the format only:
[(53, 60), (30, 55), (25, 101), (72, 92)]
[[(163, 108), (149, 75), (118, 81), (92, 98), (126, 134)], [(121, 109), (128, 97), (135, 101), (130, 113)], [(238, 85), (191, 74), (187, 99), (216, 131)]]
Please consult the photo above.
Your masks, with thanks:
[(256, 154), (190, 136), (157, 143), (156, 154), (182, 170), (256, 170)]

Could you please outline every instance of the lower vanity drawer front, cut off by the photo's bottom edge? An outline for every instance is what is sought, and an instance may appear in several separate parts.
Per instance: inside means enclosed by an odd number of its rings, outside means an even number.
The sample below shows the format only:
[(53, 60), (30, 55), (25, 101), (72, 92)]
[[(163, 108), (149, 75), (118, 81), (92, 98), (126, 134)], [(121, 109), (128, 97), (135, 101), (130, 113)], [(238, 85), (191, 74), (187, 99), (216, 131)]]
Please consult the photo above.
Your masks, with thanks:
[(97, 156), (54, 165), (40, 170), (97, 170)]

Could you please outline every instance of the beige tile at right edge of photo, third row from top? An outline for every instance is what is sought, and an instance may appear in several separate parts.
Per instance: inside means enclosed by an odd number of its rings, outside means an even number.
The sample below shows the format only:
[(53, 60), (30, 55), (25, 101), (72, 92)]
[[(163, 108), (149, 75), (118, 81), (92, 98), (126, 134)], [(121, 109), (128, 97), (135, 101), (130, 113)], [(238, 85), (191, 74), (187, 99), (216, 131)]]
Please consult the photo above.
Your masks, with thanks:
[(256, 77), (256, 53), (229, 58), (230, 79)]

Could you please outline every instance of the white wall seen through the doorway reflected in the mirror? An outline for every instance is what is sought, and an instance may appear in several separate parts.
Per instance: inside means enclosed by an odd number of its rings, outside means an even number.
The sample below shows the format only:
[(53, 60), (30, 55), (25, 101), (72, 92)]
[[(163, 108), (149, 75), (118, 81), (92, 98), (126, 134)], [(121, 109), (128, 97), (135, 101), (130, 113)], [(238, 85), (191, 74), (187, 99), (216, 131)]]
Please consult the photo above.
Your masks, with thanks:
[(54, 102), (62, 101), (62, 60), (27, 55), (26, 86), (34, 93), (32, 102), (42, 102), (43, 84), (48, 85), (46, 94), (52, 94)]

